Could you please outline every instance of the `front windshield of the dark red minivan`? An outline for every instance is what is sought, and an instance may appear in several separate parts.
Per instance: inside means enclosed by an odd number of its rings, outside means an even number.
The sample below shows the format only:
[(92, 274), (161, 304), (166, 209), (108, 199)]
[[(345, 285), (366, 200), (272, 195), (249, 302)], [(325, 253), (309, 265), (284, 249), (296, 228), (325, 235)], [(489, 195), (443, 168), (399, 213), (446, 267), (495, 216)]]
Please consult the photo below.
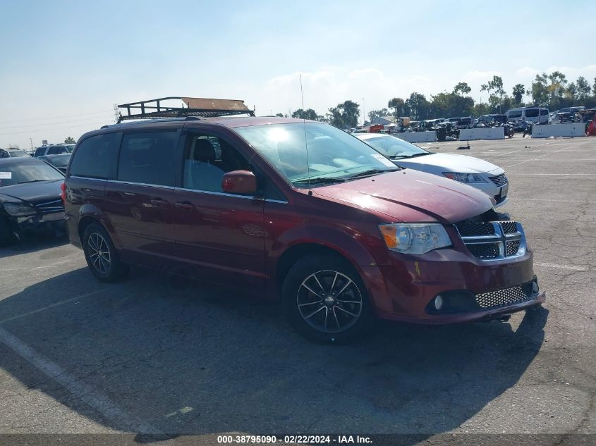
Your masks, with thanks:
[(234, 131), (295, 187), (308, 187), (309, 183), (315, 187), (399, 170), (372, 147), (327, 124), (253, 125)]

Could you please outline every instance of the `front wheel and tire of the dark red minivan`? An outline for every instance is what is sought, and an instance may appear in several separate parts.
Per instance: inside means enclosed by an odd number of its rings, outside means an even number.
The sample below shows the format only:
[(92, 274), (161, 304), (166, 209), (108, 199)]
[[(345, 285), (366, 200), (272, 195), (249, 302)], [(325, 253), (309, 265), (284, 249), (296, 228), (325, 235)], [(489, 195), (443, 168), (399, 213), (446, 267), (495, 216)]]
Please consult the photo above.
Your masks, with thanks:
[(311, 254), (298, 260), (286, 275), (281, 295), (288, 322), (312, 342), (349, 342), (372, 326), (364, 283), (340, 256)]

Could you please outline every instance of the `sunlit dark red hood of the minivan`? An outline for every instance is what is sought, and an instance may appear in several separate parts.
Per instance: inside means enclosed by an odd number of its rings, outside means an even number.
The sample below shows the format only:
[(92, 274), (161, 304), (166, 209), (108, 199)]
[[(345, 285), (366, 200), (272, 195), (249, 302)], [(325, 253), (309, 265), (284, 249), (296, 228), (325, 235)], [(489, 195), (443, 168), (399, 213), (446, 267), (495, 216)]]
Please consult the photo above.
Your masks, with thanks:
[(494, 204), (474, 187), (410, 169), (317, 187), (312, 193), (410, 223), (455, 223), (484, 213)]

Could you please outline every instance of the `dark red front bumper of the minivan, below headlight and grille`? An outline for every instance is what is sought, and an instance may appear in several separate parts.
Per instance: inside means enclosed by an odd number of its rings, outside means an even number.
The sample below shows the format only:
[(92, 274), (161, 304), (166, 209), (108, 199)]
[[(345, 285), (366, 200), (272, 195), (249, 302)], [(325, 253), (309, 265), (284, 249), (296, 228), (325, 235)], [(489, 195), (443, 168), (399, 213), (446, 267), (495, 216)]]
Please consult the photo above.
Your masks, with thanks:
[[(537, 289), (522, 299), (495, 301), (495, 305), (482, 300), (487, 294), (498, 295), (536, 280), (529, 249), (523, 256), (494, 261), (481, 261), (454, 248), (421, 256), (392, 254), (391, 259), (391, 265), (377, 267), (377, 275), (372, 268), (365, 272), (380, 318), (424, 324), (480, 321), (545, 302), (545, 292)], [(432, 302), (437, 295), (458, 295), (461, 299), (457, 302), (465, 303), (433, 311)]]

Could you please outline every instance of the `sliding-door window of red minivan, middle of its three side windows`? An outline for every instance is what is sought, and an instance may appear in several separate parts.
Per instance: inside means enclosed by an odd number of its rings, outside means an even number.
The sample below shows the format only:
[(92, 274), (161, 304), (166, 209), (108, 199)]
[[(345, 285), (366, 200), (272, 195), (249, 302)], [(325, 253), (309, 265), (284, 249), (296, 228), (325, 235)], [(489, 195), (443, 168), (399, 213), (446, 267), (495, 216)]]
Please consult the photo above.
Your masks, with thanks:
[(176, 142), (176, 131), (124, 135), (118, 181), (173, 187)]

